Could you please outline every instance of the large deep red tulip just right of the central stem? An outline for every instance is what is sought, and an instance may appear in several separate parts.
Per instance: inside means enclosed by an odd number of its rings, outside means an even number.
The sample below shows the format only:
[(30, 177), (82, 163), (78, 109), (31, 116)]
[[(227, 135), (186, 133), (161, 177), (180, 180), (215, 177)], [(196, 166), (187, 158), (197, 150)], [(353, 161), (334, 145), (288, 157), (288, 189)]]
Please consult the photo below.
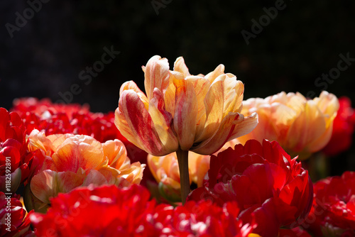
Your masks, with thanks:
[(312, 206), (312, 182), (296, 159), (276, 141), (248, 140), (212, 155), (202, 187), (187, 199), (210, 199), (220, 206), (235, 201), (239, 219), (249, 222), (255, 216), (254, 233), (278, 236), (280, 228), (302, 224)]

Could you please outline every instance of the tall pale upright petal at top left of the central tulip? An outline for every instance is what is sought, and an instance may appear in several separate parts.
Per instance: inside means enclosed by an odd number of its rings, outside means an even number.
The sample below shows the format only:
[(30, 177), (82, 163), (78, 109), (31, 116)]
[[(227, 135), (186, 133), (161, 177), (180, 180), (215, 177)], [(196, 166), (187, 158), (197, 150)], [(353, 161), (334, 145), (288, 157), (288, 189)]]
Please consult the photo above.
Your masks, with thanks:
[(153, 97), (155, 88), (158, 88), (164, 94), (170, 78), (168, 60), (158, 55), (151, 57), (147, 62), (144, 77), (144, 87), (148, 100)]

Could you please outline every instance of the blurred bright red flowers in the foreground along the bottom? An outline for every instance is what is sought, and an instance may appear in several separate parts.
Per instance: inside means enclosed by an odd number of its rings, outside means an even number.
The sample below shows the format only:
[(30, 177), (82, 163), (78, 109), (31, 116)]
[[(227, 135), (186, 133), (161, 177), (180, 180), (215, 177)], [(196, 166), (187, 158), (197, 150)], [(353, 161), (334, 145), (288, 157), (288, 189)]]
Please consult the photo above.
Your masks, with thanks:
[[(104, 186), (75, 189), (52, 200), (47, 214), (32, 214), (38, 236), (248, 236), (253, 224), (237, 221), (235, 202), (209, 201), (175, 209), (149, 201), (148, 189)], [(99, 216), (100, 218), (97, 218)]]

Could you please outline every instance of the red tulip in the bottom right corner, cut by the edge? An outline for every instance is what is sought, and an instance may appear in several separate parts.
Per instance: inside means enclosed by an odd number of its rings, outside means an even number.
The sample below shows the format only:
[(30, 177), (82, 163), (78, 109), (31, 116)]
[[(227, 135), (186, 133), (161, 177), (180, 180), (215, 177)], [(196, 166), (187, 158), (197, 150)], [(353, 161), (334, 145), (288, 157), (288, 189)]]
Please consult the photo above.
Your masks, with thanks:
[(314, 200), (305, 226), (314, 236), (355, 236), (355, 172), (314, 184)]

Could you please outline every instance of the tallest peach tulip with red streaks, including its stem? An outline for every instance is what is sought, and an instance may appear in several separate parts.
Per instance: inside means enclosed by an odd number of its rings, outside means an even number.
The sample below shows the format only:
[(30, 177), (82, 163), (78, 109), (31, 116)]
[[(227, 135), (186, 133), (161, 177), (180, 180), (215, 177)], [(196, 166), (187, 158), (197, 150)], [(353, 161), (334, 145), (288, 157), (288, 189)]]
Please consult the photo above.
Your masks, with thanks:
[(209, 155), (255, 128), (256, 114), (241, 113), (244, 84), (219, 65), (206, 76), (190, 75), (182, 57), (153, 56), (143, 67), (146, 94), (134, 82), (120, 89), (115, 124), (124, 137), (155, 156), (177, 152), (182, 202), (190, 192), (188, 150)]

